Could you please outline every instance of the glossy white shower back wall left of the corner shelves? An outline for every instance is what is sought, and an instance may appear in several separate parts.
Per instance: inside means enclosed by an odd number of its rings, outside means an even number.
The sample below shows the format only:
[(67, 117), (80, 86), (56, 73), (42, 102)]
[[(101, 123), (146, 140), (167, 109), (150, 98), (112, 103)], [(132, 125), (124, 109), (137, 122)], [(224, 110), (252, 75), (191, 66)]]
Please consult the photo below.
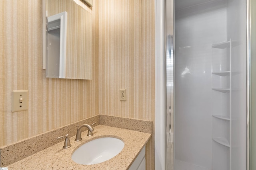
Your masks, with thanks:
[(212, 169), (212, 44), (227, 39), (226, 1), (175, 12), (174, 168)]

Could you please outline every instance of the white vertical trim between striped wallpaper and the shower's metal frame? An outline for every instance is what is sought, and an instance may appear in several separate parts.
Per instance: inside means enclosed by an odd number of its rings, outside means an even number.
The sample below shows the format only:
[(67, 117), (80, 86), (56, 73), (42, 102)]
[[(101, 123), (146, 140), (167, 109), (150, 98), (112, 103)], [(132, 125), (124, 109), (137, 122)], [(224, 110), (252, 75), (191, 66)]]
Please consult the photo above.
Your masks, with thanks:
[(166, 169), (166, 2), (155, 0), (155, 169)]

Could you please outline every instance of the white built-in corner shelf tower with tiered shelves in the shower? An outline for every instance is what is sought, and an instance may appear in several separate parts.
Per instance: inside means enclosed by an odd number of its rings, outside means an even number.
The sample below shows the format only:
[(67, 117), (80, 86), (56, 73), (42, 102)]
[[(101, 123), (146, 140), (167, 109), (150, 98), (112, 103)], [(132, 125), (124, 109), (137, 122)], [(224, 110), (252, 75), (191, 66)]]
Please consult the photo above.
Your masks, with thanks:
[(212, 44), (212, 165), (222, 170), (231, 170), (231, 48), (234, 45), (238, 41), (231, 39)]

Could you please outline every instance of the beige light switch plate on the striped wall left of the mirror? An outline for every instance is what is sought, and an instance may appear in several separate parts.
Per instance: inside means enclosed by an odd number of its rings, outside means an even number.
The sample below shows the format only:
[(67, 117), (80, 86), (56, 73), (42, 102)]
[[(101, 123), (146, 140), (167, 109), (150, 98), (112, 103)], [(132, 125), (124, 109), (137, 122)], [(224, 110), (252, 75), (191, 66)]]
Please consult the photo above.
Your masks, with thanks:
[(28, 109), (28, 90), (12, 91), (12, 112)]

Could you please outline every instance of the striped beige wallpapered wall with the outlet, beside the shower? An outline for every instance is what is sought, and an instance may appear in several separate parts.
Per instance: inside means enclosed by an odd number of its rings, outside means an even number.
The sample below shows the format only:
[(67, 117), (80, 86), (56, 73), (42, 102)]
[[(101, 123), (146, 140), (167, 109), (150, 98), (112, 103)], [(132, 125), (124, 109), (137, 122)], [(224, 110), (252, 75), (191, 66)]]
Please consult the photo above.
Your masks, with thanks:
[[(154, 122), (154, 33), (154, 0), (99, 0), (100, 114)], [(146, 152), (154, 169), (154, 135)]]

